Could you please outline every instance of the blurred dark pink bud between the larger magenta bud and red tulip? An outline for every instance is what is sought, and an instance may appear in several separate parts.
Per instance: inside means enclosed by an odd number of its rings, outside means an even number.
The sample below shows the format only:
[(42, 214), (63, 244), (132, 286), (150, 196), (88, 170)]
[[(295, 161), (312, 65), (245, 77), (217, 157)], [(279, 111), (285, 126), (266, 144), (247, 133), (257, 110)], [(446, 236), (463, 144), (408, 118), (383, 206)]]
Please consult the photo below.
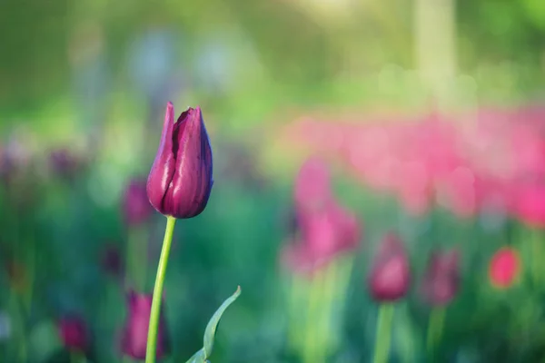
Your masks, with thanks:
[(456, 296), (460, 284), (458, 250), (433, 252), (422, 280), (422, 293), (432, 306), (444, 306)]

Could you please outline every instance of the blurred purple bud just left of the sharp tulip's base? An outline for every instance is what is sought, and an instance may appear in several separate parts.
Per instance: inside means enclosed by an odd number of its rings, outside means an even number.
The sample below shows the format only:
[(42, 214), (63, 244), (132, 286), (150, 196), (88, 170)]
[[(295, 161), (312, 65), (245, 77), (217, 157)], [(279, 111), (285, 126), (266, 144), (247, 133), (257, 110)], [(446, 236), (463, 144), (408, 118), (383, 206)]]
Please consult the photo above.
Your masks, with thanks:
[(124, 192), (124, 221), (129, 226), (136, 226), (148, 221), (152, 215), (152, 205), (147, 197), (144, 181), (133, 180)]

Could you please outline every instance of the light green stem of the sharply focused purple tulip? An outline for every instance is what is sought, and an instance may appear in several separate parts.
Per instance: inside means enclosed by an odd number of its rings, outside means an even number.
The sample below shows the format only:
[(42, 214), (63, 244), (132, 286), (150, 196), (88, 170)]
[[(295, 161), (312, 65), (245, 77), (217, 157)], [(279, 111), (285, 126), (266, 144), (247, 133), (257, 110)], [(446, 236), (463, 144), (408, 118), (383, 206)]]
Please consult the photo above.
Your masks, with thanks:
[(152, 302), (152, 311), (150, 314), (150, 325), (148, 329), (147, 347), (145, 350), (145, 363), (155, 362), (155, 352), (157, 346), (157, 328), (159, 327), (159, 312), (161, 311), (161, 300), (163, 298), (164, 272), (168, 264), (168, 255), (173, 242), (173, 231), (176, 219), (166, 217), (166, 228), (164, 230), (163, 248), (157, 267), (157, 277), (155, 278), (154, 299)]

